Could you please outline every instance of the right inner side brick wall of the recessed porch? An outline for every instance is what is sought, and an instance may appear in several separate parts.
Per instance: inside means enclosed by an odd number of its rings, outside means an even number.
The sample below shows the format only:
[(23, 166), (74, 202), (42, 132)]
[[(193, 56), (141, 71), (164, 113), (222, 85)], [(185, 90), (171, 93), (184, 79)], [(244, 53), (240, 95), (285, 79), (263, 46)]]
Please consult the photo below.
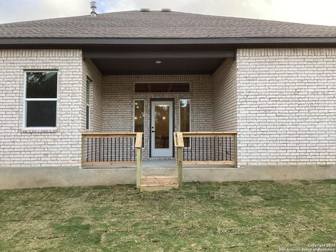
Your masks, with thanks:
[(214, 131), (237, 130), (237, 62), (226, 59), (214, 73)]

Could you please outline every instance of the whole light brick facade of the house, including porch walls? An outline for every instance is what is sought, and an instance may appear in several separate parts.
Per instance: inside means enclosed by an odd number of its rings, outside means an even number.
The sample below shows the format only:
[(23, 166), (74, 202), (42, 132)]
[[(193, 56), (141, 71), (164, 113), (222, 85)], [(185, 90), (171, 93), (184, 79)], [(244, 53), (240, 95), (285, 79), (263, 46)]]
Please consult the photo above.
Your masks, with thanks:
[[(308, 165), (319, 169), (323, 165), (331, 167), (332, 172), (320, 178), (332, 178), (336, 175), (334, 45), (282, 48), (237, 45), (235, 55), (221, 58), (221, 64), (211, 73), (188, 74), (106, 73), (98, 59), (85, 55), (85, 48), (3, 48), (0, 168), (80, 168), (82, 132), (133, 132), (135, 99), (145, 101), (143, 158), (148, 160), (151, 99), (169, 98), (174, 99), (175, 132), (180, 131), (180, 99), (190, 99), (191, 132), (237, 132), (239, 168)], [(57, 127), (52, 130), (29, 129), (24, 123), (25, 71), (42, 70), (58, 74)], [(86, 130), (88, 78), (90, 129)], [(136, 93), (134, 83), (138, 82), (188, 82), (190, 92)], [(301, 173), (304, 174), (304, 169)], [(235, 178), (239, 176), (237, 172)], [(300, 176), (288, 175), (293, 179)], [(250, 177), (255, 179), (253, 175)], [(256, 177), (260, 178), (264, 177)]]

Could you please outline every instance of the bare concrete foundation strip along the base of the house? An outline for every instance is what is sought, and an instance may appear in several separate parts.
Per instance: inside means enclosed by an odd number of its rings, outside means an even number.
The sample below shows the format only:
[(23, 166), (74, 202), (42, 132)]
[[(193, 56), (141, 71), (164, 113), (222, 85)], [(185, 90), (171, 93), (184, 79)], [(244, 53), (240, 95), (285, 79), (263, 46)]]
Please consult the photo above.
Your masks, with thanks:
[[(146, 175), (172, 175), (174, 167), (143, 169)], [(136, 169), (79, 169), (78, 167), (0, 168), (0, 190), (64, 186), (135, 184)], [(336, 179), (336, 165), (274, 167), (184, 167), (183, 181), (252, 181), (252, 180)]]

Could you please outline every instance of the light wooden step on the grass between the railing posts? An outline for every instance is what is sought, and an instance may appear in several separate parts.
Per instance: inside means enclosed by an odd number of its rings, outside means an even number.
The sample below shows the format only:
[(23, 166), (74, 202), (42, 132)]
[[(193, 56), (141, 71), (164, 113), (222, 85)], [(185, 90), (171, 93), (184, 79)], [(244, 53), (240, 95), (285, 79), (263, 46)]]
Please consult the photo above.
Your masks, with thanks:
[(179, 188), (177, 176), (142, 176), (141, 191), (170, 190)]

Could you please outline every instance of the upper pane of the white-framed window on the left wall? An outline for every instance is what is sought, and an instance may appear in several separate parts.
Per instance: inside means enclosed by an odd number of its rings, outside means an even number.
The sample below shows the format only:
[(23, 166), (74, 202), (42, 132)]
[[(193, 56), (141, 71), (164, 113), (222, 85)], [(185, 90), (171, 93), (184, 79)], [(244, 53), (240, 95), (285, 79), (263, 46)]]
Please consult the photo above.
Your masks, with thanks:
[(57, 98), (56, 72), (27, 72), (27, 98)]

